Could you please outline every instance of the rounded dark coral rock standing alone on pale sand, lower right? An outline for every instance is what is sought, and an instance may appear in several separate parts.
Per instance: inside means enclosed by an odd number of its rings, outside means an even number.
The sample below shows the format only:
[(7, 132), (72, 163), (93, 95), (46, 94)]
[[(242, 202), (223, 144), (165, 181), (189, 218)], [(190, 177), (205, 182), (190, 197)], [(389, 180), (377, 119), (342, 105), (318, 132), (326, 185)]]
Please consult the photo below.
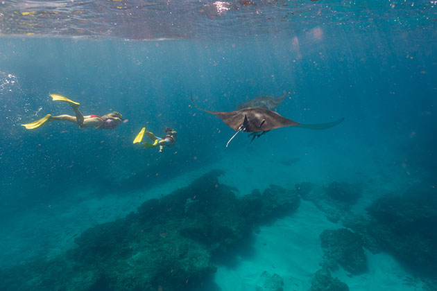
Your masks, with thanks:
[(348, 229), (325, 229), (320, 234), (325, 263), (334, 267), (337, 263), (353, 275), (368, 271), (363, 240), (358, 233)]

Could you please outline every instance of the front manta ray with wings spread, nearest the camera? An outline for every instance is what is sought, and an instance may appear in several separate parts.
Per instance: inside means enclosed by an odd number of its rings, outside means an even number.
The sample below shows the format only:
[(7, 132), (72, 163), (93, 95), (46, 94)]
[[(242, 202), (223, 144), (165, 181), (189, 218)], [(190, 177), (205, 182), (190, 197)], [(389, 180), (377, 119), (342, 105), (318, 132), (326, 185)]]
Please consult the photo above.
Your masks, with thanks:
[[(197, 109), (214, 114), (218, 118), (221, 118), (221, 120), (233, 130), (237, 130), (228, 143), (226, 143), (226, 148), (228, 148), (230, 141), (232, 141), (239, 132), (261, 132), (260, 134), (256, 134), (257, 136), (261, 136), (268, 130), (274, 130), (286, 126), (307, 128), (309, 130), (325, 130), (329, 127), (338, 125), (344, 120), (344, 118), (340, 118), (329, 123), (302, 124), (280, 116), (280, 114), (265, 108), (244, 108), (230, 112), (214, 112), (198, 107), (198, 105), (194, 103), (192, 95), (191, 102)], [(254, 136), (252, 140), (255, 139), (255, 137), (256, 136)]]

